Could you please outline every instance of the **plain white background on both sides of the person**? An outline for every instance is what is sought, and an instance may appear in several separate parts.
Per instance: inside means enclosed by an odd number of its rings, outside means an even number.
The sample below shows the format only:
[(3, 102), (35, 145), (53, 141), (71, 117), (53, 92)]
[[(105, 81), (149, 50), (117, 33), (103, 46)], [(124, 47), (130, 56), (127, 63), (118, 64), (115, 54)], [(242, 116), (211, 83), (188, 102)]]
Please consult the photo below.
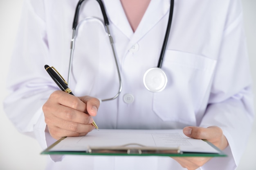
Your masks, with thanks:
[[(0, 0), (0, 170), (43, 170), (46, 155), (37, 141), (20, 134), (7, 119), (2, 100), (7, 96), (6, 77), (23, 0)], [(242, 0), (251, 70), (256, 96), (256, 0)], [(15, 72), (17, 70), (13, 70)], [(256, 106), (256, 101), (254, 101)], [(15, 106), (13, 106), (15, 107)], [(256, 107), (255, 107), (256, 108)], [(239, 126), (239, 125), (238, 125)], [(256, 122), (237, 170), (256, 170)]]

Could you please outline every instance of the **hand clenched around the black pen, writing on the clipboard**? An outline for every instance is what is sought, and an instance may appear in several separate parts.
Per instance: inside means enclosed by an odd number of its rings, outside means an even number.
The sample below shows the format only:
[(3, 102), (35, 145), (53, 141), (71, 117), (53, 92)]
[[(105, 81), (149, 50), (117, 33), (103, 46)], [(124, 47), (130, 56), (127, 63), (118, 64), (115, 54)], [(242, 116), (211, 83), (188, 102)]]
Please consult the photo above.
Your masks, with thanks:
[(54, 139), (86, 135), (94, 129), (92, 116), (97, 115), (99, 105), (97, 98), (55, 91), (43, 105), (46, 130)]

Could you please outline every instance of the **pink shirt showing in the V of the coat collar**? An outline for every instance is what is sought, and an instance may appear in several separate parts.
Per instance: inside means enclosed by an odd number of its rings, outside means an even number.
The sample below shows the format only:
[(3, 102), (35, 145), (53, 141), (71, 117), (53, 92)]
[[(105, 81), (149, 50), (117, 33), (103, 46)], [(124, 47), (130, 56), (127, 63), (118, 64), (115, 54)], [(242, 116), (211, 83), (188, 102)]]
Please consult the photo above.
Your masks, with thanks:
[(150, 0), (120, 0), (133, 32), (136, 31)]

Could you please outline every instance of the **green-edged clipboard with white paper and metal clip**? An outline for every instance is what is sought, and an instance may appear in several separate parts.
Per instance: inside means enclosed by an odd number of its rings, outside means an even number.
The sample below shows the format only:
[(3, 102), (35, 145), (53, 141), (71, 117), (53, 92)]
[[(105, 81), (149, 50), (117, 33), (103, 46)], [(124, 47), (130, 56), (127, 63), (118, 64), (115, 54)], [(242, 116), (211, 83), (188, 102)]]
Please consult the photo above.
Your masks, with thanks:
[(100, 131), (92, 131), (83, 137), (62, 137), (41, 154), (168, 157), (227, 156), (206, 140), (186, 137), (181, 129), (101, 129)]

